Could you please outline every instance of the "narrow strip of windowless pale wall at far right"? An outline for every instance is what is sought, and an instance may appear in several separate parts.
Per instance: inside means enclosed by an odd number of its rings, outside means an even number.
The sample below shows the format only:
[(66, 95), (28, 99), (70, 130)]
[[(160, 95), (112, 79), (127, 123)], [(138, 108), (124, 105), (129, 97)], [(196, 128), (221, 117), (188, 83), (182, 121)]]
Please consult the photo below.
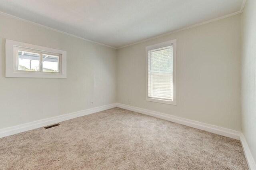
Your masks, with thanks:
[(256, 161), (256, 1), (242, 14), (242, 132)]

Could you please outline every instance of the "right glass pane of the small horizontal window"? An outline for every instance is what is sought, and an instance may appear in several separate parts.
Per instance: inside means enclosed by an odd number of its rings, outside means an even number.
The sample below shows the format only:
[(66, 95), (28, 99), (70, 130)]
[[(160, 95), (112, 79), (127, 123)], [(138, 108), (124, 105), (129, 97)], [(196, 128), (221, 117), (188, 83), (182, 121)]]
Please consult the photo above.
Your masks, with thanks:
[(58, 55), (43, 54), (43, 71), (59, 72), (58, 61), (59, 61)]

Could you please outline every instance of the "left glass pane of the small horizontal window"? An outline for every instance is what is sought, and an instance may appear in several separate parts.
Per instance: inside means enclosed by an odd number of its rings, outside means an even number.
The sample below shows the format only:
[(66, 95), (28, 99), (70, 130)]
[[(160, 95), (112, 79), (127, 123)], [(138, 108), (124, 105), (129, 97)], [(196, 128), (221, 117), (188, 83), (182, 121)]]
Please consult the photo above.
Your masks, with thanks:
[(18, 70), (40, 71), (39, 59), (40, 53), (18, 50)]

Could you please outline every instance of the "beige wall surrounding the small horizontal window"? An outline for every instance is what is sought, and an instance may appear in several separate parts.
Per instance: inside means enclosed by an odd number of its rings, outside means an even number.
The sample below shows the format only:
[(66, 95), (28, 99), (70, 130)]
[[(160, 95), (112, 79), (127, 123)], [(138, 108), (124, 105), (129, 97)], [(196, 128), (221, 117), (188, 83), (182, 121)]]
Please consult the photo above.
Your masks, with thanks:
[[(5, 78), (5, 39), (67, 51), (67, 78)], [(116, 54), (0, 15), (0, 129), (116, 103)]]

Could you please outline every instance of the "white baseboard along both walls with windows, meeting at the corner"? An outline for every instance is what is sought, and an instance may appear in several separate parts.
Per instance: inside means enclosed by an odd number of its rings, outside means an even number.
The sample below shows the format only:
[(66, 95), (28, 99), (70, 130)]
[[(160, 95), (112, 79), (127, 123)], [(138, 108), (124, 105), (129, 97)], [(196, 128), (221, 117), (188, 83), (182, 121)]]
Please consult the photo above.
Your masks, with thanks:
[(145, 114), (145, 115), (150, 115), (150, 116), (153, 116), (153, 117), (157, 117), (157, 118), (164, 119), (164, 120), (167, 120), (167, 121), (179, 123), (179, 124), (186, 125), (186, 126), (189, 126), (189, 127), (194, 127), (194, 128), (198, 128), (198, 129), (201, 129), (201, 130), (206, 130), (208, 132), (212, 132), (212, 133), (215, 133), (215, 134), (220, 134), (222, 136), (227, 136), (227, 137), (238, 139), (238, 140), (240, 139), (240, 132), (238, 132), (236, 130), (231, 130), (231, 129), (228, 129), (228, 128), (222, 128), (222, 127), (218, 127), (218, 126), (214, 126), (214, 125), (209, 125), (209, 124), (206, 124), (206, 123), (192, 121), (192, 120), (189, 120), (189, 119), (184, 119), (184, 118), (180, 118), (180, 117), (176, 117), (176, 116), (172, 116), (172, 115), (167, 115), (167, 114), (156, 112), (156, 111), (150, 111), (150, 110), (147, 110), (147, 109), (141, 109), (141, 108), (138, 108), (138, 107), (133, 107), (133, 106), (124, 105), (124, 104), (120, 104), (120, 103), (104, 105), (104, 106), (95, 107), (95, 108), (92, 108), (92, 109), (86, 109), (86, 110), (83, 110), (83, 111), (78, 111), (78, 112), (74, 112), (74, 113), (69, 113), (69, 114), (65, 114), (65, 115), (60, 115), (60, 116), (56, 116), (56, 117), (42, 119), (42, 120), (39, 120), (39, 121), (34, 121), (34, 122), (22, 124), (22, 125), (17, 125), (17, 126), (14, 126), (14, 127), (3, 128), (3, 129), (0, 129), (0, 138), (4, 137), (4, 136), (9, 136), (9, 135), (12, 135), (12, 134), (24, 132), (24, 131), (27, 131), (27, 130), (32, 130), (32, 129), (39, 128), (39, 127), (44, 127), (44, 126), (51, 125), (51, 124), (54, 124), (54, 123), (67, 121), (69, 119), (74, 119), (76, 117), (89, 115), (89, 114), (96, 113), (96, 112), (99, 112), (99, 111), (104, 111), (104, 110), (111, 109), (111, 108), (114, 108), (114, 107), (120, 107), (122, 109), (127, 109), (127, 110), (130, 110), (130, 111), (135, 111), (135, 112), (142, 113), (142, 114)]

